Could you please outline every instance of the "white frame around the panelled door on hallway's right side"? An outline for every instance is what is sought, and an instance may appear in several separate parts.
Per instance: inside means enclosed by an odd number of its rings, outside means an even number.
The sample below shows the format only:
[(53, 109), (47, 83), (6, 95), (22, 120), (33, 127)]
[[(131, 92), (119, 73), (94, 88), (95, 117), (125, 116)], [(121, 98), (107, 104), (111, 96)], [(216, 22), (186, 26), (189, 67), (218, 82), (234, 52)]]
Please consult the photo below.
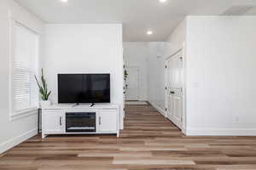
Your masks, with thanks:
[[(170, 56), (168, 56), (166, 58), (166, 61), (165, 61), (165, 77), (166, 77), (166, 87), (165, 87), (165, 91), (166, 91), (166, 112), (165, 112), (165, 116), (166, 118), (168, 117), (167, 115), (167, 108), (168, 108), (168, 94), (167, 94), (167, 60), (168, 59), (171, 59), (174, 55), (176, 55), (177, 53), (179, 52), (182, 52), (182, 57), (183, 57), (183, 112), (182, 112), (182, 127), (181, 127), (181, 130), (184, 134), (186, 134), (186, 129), (187, 129), (187, 114), (186, 114), (186, 98), (187, 98), (187, 93), (186, 93), (186, 53), (185, 53), (185, 42), (183, 42), (183, 47), (182, 48), (178, 48), (175, 53), (171, 54)], [(172, 121), (172, 120), (171, 120)]]

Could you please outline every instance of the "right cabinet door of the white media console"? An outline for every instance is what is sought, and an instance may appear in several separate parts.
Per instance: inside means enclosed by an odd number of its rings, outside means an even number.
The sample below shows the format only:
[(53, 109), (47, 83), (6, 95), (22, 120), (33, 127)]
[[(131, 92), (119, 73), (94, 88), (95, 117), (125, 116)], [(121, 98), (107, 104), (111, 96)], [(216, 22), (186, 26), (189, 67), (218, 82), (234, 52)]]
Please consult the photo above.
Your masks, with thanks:
[(115, 109), (99, 112), (98, 123), (100, 133), (115, 133), (118, 128), (118, 112)]

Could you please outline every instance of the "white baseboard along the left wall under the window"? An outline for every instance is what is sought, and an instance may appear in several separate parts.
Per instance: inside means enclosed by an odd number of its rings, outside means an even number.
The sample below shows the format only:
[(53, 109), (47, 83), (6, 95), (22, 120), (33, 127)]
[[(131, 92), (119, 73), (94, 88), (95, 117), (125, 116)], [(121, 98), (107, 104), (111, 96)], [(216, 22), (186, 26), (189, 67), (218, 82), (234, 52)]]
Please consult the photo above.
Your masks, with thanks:
[(20, 136), (17, 136), (13, 139), (7, 140), (6, 142), (3, 142), (2, 144), (0, 144), (0, 154), (5, 152), (6, 150), (9, 150), (15, 147), (15, 145), (20, 144), (21, 142), (24, 142), (26, 139), (32, 138), (36, 134), (38, 134), (38, 128), (34, 128), (30, 131), (27, 131), (26, 133), (21, 134)]

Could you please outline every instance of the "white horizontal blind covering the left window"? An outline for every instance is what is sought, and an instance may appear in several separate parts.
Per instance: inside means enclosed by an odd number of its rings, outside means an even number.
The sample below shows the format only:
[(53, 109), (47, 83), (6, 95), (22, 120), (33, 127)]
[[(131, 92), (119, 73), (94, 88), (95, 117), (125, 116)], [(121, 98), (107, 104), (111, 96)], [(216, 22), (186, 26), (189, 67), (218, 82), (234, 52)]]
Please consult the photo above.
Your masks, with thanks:
[(38, 107), (38, 88), (34, 75), (38, 70), (38, 34), (15, 23), (13, 62), (14, 113), (18, 115)]

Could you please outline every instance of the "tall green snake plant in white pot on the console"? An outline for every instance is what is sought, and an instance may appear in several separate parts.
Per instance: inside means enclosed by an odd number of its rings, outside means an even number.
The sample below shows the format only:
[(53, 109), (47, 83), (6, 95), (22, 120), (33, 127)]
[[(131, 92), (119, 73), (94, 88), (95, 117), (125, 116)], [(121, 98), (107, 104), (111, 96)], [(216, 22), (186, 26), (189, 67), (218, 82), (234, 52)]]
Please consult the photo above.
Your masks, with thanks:
[(41, 108), (49, 106), (50, 105), (49, 94), (51, 94), (51, 91), (48, 91), (47, 83), (46, 83), (45, 78), (44, 78), (43, 69), (42, 69), (42, 75), (41, 75), (41, 82), (42, 83), (38, 82), (38, 78), (36, 76), (35, 76), (35, 79), (38, 83), (38, 88), (39, 88), (39, 92), (40, 92), (40, 95), (41, 95), (41, 100), (40, 100)]

